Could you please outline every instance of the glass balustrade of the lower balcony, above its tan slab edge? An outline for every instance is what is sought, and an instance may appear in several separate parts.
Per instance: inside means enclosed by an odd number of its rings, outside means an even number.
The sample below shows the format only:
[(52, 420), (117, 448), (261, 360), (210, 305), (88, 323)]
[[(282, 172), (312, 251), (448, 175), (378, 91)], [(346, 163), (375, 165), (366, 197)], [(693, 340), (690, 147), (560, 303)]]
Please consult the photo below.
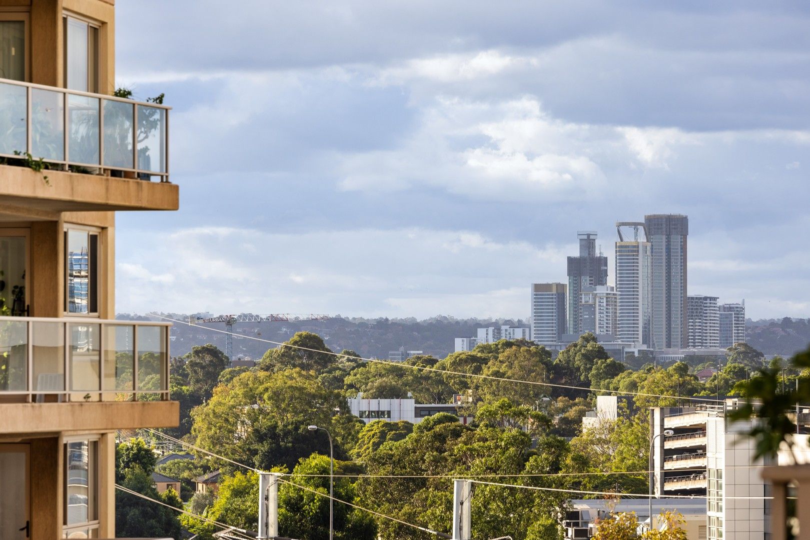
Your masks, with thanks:
[(168, 400), (169, 326), (0, 317), (0, 403)]

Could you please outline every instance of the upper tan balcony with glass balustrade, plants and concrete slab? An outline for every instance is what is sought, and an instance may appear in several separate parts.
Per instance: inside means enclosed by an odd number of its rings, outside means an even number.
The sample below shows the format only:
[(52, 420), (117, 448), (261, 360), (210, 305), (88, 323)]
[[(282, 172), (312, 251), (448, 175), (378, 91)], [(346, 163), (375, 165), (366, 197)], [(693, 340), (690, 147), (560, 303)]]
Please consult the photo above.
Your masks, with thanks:
[(168, 113), (163, 104), (0, 79), (0, 164), (17, 166), (0, 171), (0, 195), (12, 205), (49, 202), (38, 210), (174, 210)]

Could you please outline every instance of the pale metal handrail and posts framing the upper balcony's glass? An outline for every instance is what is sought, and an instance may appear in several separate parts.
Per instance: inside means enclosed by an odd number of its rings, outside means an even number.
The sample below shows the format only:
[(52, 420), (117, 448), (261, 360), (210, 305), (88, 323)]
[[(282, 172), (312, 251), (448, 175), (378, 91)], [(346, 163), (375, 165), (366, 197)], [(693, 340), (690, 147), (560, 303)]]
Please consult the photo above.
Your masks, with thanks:
[[(104, 94), (96, 94), (87, 91), (78, 91), (78, 90), (69, 90), (66, 88), (60, 87), (49, 87), (43, 84), (35, 84), (35, 83), (26, 83), (23, 81), (15, 81), (11, 79), (0, 79), (0, 89), (2, 89), (2, 85), (12, 85), (16, 87), (23, 87), (25, 88), (25, 144), (24, 148), (7, 148), (8, 151), (19, 151), (20, 154), (28, 153), (31, 154), (34, 159), (39, 159), (40, 157), (49, 164), (58, 164), (63, 166), (64, 168), (69, 168), (70, 166), (74, 167), (83, 167), (83, 168), (92, 168), (97, 170), (114, 170), (114, 171), (122, 171), (122, 172), (132, 172), (136, 176), (160, 176), (160, 181), (168, 181), (168, 112), (171, 110), (171, 107), (164, 104), (157, 104), (151, 102), (144, 102), (144, 101), (136, 101), (130, 100), (122, 97), (117, 96), (106, 96)], [(32, 145), (32, 133), (34, 132), (34, 115), (33, 115), (33, 91), (35, 90), (43, 90), (43, 91), (51, 91), (56, 92), (58, 94), (62, 94), (59, 98), (60, 103), (58, 106), (62, 107), (62, 118), (61, 124), (58, 128), (53, 131), (57, 131), (59, 129), (62, 130), (62, 141), (61, 141), (61, 148), (58, 148), (56, 151), (62, 152), (62, 159), (57, 159), (52, 156), (45, 156), (45, 155), (37, 155), (39, 152), (34, 152), (34, 148)], [(0, 93), (2, 96), (2, 93)], [(72, 118), (70, 117), (70, 100), (68, 100), (68, 96), (79, 96), (79, 97), (86, 97), (92, 98), (94, 100), (98, 100), (97, 106), (92, 106), (88, 110), (92, 111), (92, 113), (97, 117), (96, 121), (92, 123), (92, 129), (98, 130), (98, 140), (96, 144), (98, 147), (93, 147), (93, 153), (98, 154), (97, 161), (95, 159), (92, 160), (92, 163), (88, 163), (82, 160), (71, 160), (70, 159), (70, 137), (71, 137), (71, 122)], [(127, 167), (126, 165), (113, 165), (113, 164), (105, 164), (104, 163), (104, 102), (117, 102), (117, 103), (124, 103), (131, 105), (131, 125), (128, 134), (131, 138), (131, 161), (132, 167)], [(74, 105), (75, 106), (75, 105)], [(156, 125), (157, 134), (156, 136), (160, 139), (160, 147), (156, 149), (159, 154), (159, 159), (157, 161), (160, 162), (157, 168), (163, 168), (164, 170), (152, 170), (152, 168), (143, 167), (142, 164), (139, 164), (139, 119), (138, 119), (138, 112), (140, 107), (148, 107), (153, 109), (160, 110), (160, 121)], [(47, 109), (46, 109), (47, 110)], [(74, 110), (79, 110), (75, 108)], [(50, 111), (47, 111), (50, 112)], [(20, 120), (23, 120), (22, 118)], [(127, 118), (130, 120), (130, 118)], [(77, 125), (81, 125), (81, 121), (77, 121)], [(11, 126), (0, 126), (0, 131), (6, 131), (11, 128)], [(95, 139), (95, 138), (94, 138)], [(2, 152), (0, 151), (0, 156), (4, 158), (10, 159), (21, 159), (21, 155), (15, 155), (13, 152)], [(127, 158), (129, 159), (129, 157)], [(89, 160), (88, 160), (89, 161)], [(162, 165), (162, 166), (161, 166)]]

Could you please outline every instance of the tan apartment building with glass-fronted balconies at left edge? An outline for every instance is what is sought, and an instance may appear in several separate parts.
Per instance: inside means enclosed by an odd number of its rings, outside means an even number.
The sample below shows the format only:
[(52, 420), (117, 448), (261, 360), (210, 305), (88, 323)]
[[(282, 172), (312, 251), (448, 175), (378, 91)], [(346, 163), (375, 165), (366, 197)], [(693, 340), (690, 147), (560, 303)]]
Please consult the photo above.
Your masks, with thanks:
[(178, 423), (168, 325), (113, 320), (115, 212), (178, 205), (114, 29), (113, 0), (0, 2), (3, 540), (113, 538), (116, 430)]

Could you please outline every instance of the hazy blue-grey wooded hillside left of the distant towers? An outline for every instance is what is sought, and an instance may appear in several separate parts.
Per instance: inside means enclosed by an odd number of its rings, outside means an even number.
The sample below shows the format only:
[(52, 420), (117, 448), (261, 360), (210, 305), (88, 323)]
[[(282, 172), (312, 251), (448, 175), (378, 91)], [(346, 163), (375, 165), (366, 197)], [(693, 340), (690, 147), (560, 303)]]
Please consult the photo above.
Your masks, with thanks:
[[(177, 321), (188, 321), (185, 314), (166, 314)], [(138, 320), (141, 315), (122, 313), (121, 319)], [(233, 352), (260, 359), (267, 349), (275, 347), (249, 337), (268, 339), (274, 342), (285, 342), (301, 330), (320, 335), (332, 351), (351, 349), (364, 358), (388, 358), (389, 351), (405, 347), (407, 351), (424, 351), (426, 355), (444, 358), (454, 350), (454, 338), (475, 336), (476, 329), (486, 326), (528, 326), (522, 320), (484, 320), (455, 319), (454, 317), (432, 317), (417, 321), (407, 319), (364, 319), (335, 317), (329, 321), (288, 321), (237, 323), (234, 333)], [(175, 324), (172, 327), (172, 355), (180, 356), (191, 350), (194, 345), (213, 343), (224, 351), (225, 334), (209, 329), (225, 330), (221, 323), (206, 325)]]

